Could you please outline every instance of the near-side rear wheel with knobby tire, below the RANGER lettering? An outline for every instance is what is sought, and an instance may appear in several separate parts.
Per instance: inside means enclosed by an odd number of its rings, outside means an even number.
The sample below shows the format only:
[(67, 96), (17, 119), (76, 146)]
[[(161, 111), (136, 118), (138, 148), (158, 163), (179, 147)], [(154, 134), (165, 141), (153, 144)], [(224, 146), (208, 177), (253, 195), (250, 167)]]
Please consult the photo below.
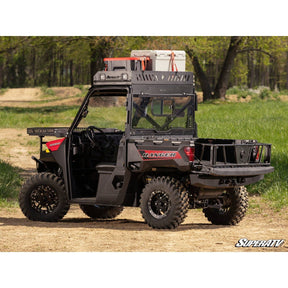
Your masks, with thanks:
[(157, 229), (173, 229), (188, 212), (188, 193), (179, 181), (170, 177), (152, 179), (143, 189), (140, 208), (146, 223)]

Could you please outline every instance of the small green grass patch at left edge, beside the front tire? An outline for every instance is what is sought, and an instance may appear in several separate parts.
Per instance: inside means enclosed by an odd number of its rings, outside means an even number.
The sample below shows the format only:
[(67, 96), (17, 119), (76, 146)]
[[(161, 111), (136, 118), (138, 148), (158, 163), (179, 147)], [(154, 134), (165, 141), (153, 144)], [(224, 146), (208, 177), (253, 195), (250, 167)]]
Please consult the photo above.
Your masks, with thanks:
[(21, 183), (19, 170), (0, 160), (0, 207), (15, 204)]

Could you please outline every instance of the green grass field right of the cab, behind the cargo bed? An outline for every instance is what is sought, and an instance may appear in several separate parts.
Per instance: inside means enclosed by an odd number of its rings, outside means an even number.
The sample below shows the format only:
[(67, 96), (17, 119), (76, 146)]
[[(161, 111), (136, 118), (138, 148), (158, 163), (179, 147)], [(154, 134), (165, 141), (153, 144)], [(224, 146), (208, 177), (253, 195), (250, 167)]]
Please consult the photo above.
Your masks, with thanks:
[(271, 164), (275, 171), (247, 188), (271, 201), (277, 210), (288, 206), (288, 103), (210, 103), (200, 104), (198, 110), (199, 137), (256, 139), (272, 144)]

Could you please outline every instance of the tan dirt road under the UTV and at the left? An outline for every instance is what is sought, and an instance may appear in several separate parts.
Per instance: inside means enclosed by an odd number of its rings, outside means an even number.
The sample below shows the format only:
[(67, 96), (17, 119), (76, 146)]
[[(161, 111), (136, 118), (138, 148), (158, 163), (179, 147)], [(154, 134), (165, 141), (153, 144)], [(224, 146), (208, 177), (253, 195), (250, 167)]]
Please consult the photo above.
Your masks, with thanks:
[[(39, 95), (37, 93), (34, 93), (34, 98), (27, 93), (30, 98), (25, 98), (25, 101), (35, 101)], [(13, 102), (11, 95), (6, 95), (7, 99), (1, 97), (0, 106), (23, 105)], [(32, 139), (37, 141), (26, 134), (26, 129), (0, 129), (0, 159), (24, 169), (24, 177), (29, 177), (35, 171), (31, 156), (39, 153), (37, 146), (29, 144)], [(201, 210), (190, 210), (185, 222), (176, 230), (149, 228), (139, 208), (125, 208), (114, 220), (93, 221), (78, 206), (72, 206), (58, 223), (32, 222), (24, 217), (19, 208), (1, 208), (0, 251), (288, 252), (288, 209), (273, 212), (260, 197), (250, 198), (250, 203), (248, 214), (237, 226), (212, 225)], [(236, 248), (235, 244), (241, 238), (284, 239), (285, 242), (278, 248)]]

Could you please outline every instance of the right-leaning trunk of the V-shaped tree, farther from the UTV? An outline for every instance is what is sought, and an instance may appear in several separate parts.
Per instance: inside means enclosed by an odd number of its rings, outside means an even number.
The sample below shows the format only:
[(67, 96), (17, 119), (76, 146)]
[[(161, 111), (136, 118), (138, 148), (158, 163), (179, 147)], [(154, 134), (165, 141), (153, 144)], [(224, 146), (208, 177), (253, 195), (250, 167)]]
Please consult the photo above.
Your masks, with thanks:
[(229, 78), (231, 74), (231, 69), (233, 67), (234, 59), (237, 55), (237, 50), (242, 41), (240, 36), (232, 36), (230, 40), (230, 45), (226, 54), (226, 58), (218, 78), (214, 98), (225, 100), (225, 94), (229, 84)]

